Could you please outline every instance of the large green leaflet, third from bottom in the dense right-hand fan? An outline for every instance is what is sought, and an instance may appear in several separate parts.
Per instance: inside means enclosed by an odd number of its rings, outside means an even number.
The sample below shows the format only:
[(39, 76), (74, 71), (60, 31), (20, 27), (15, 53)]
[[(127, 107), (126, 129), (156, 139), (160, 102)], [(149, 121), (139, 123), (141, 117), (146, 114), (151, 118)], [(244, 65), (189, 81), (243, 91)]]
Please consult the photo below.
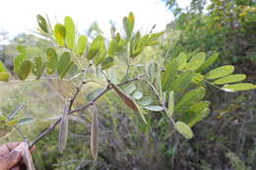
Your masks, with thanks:
[(188, 91), (180, 101), (175, 104), (174, 113), (188, 109), (193, 103), (200, 101), (205, 96), (205, 88), (199, 87)]

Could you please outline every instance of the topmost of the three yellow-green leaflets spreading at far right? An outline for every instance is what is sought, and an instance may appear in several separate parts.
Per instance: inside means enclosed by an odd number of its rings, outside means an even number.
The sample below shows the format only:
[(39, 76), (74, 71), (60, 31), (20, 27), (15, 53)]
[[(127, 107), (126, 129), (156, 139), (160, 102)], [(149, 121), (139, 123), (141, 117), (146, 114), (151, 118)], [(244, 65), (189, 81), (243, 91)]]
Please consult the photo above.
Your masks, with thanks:
[(231, 65), (221, 66), (208, 72), (205, 76), (206, 79), (218, 79), (233, 73), (234, 67)]

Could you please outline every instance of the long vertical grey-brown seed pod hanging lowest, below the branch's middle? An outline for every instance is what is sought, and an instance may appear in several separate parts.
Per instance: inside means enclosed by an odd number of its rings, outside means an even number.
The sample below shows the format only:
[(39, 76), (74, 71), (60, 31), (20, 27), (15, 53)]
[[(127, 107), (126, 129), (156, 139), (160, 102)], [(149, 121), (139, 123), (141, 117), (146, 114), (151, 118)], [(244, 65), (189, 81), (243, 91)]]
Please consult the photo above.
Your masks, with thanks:
[(92, 156), (96, 159), (98, 150), (98, 117), (96, 105), (94, 105), (94, 118), (91, 127), (91, 152)]

